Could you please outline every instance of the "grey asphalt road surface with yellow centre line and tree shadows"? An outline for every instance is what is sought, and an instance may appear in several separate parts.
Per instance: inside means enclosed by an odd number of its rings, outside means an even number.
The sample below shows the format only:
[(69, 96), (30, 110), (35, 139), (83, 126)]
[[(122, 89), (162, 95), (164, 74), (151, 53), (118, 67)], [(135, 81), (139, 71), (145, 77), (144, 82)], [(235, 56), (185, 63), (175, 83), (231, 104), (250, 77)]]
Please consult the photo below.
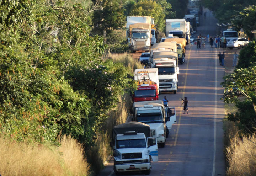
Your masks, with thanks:
[[(198, 32), (215, 35), (217, 20), (204, 10)], [(186, 47), (186, 60), (179, 65), (178, 91), (161, 94), (176, 108), (177, 123), (173, 125), (164, 148), (159, 148), (159, 161), (153, 162), (151, 176), (224, 176), (223, 154), (224, 104), (222, 86), (224, 68), (219, 66), (217, 50), (206, 42), (205, 49)], [(188, 98), (188, 114), (183, 114), (181, 98)], [(113, 159), (98, 176), (115, 175)], [(125, 175), (143, 175), (129, 173)]]

